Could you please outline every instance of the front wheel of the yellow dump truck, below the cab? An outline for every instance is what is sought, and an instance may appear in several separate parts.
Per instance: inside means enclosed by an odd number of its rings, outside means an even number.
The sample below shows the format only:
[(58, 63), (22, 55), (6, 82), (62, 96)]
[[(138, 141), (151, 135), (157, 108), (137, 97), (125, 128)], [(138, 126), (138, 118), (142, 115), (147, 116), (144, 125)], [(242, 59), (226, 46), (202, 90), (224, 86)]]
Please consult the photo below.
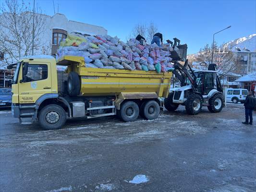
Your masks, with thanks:
[(38, 121), (45, 130), (60, 129), (66, 122), (66, 112), (59, 105), (47, 105), (40, 110)]

